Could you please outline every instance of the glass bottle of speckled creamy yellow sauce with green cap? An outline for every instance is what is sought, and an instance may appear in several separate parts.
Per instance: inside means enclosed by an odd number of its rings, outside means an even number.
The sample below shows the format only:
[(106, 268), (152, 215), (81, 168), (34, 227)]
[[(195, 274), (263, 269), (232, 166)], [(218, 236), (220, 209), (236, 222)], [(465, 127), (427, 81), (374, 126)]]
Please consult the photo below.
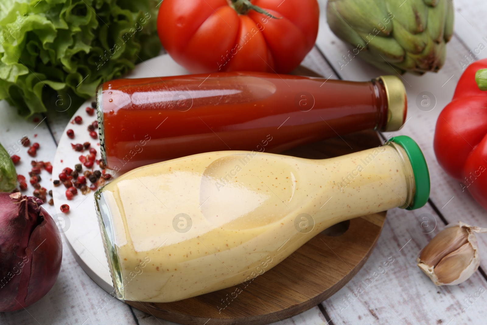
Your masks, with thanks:
[(135, 169), (95, 193), (118, 298), (172, 302), (249, 281), (320, 231), (428, 200), (417, 144), (313, 160), (201, 153)]

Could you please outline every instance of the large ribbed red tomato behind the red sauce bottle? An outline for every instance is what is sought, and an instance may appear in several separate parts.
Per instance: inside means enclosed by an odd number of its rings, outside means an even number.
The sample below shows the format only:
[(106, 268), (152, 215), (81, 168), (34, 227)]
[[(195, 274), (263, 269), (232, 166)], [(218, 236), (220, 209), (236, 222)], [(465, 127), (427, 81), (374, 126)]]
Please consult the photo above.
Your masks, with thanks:
[(191, 73), (289, 73), (313, 48), (318, 34), (317, 0), (252, 1), (281, 19), (254, 9), (239, 14), (233, 4), (250, 2), (229, 2), (162, 1), (157, 17), (162, 45)]

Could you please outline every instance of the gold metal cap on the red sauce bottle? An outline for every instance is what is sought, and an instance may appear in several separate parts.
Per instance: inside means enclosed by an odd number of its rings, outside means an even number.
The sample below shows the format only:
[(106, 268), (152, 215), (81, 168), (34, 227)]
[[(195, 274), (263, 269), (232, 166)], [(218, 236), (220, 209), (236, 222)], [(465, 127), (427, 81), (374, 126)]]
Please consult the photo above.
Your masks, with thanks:
[(397, 131), (406, 121), (408, 99), (406, 89), (397, 76), (379, 76), (387, 95), (387, 124), (382, 131)]

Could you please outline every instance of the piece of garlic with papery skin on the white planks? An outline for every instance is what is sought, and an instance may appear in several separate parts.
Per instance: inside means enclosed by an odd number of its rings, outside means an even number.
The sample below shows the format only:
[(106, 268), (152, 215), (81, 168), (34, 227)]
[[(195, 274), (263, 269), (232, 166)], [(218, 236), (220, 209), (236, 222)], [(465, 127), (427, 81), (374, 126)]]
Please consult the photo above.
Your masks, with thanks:
[(459, 221), (431, 239), (416, 262), (436, 286), (453, 286), (466, 281), (479, 267), (480, 255), (475, 233), (486, 228), (470, 227)]

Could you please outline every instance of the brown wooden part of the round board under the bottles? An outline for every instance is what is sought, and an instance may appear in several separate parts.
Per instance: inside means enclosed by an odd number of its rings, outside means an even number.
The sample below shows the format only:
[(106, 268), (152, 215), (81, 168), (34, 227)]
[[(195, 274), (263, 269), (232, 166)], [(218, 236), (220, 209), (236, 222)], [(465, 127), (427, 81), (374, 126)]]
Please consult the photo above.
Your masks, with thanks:
[[(364, 131), (301, 146), (283, 154), (324, 159), (380, 144), (374, 131)], [(385, 218), (386, 211), (326, 229), (247, 287), (229, 287), (174, 303), (126, 303), (180, 324), (279, 322), (318, 305), (352, 279), (374, 249)]]

